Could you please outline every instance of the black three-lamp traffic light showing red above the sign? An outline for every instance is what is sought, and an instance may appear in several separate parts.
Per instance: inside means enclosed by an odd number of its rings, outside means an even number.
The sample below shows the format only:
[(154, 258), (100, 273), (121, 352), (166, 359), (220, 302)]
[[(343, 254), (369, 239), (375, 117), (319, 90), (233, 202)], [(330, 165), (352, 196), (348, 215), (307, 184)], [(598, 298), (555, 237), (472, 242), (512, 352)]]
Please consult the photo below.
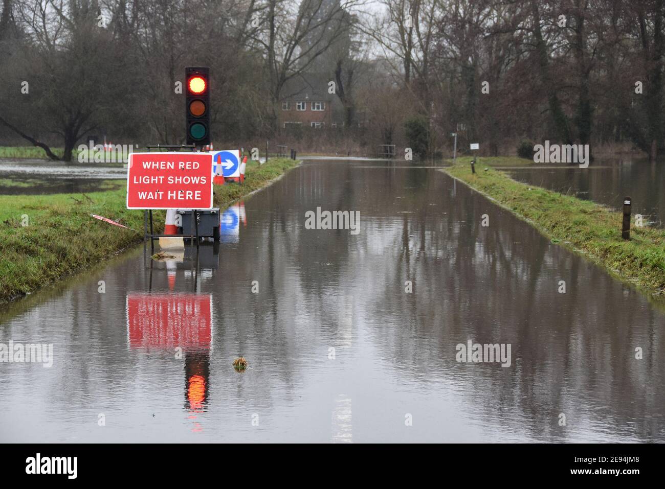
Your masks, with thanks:
[(207, 66), (185, 68), (187, 144), (210, 144), (209, 74)]

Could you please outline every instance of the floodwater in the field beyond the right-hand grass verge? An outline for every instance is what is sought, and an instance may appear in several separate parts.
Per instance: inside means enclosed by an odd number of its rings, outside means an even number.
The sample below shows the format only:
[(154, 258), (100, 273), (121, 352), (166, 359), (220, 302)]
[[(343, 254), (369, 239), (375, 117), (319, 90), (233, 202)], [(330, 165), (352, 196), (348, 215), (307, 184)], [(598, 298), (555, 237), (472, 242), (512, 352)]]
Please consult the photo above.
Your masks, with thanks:
[(580, 199), (622, 209), (624, 197), (632, 199), (632, 213), (662, 227), (665, 221), (665, 161), (597, 159), (589, 168), (549, 165), (507, 170), (511, 177)]

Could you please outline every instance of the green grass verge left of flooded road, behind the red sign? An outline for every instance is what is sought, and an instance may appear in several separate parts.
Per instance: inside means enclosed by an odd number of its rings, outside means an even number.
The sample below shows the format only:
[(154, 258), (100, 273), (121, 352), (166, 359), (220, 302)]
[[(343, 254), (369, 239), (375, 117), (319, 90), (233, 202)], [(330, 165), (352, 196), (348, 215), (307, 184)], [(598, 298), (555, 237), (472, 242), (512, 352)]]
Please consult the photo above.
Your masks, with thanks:
[[(247, 163), (243, 185), (215, 185), (215, 206), (222, 209), (265, 187), (299, 161), (269, 159)], [(126, 183), (110, 181), (112, 189), (91, 193), (0, 195), (0, 304), (80, 270), (143, 239), (143, 211), (128, 211)], [(155, 211), (156, 232), (164, 212)], [(129, 231), (90, 217), (98, 214), (135, 229)]]

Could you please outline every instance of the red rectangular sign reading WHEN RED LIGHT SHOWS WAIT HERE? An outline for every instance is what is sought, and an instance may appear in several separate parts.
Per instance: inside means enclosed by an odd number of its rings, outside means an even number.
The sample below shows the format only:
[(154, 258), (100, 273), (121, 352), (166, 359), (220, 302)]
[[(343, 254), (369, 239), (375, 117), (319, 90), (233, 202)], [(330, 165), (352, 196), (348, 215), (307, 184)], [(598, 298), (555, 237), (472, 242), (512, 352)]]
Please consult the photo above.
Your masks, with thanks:
[(127, 209), (210, 209), (211, 153), (130, 153)]

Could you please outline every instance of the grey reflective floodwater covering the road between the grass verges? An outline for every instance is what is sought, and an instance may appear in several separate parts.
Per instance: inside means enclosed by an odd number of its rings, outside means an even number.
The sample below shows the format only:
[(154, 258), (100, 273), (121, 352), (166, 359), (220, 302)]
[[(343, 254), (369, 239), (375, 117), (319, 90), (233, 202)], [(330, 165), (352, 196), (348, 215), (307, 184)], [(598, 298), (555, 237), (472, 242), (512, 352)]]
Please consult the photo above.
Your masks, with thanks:
[[(360, 232), (306, 229), (317, 207)], [(305, 163), (195, 250), (0, 316), (0, 343), (53, 343), (0, 363), (0, 440), (665, 441), (662, 308), (441, 171)]]

